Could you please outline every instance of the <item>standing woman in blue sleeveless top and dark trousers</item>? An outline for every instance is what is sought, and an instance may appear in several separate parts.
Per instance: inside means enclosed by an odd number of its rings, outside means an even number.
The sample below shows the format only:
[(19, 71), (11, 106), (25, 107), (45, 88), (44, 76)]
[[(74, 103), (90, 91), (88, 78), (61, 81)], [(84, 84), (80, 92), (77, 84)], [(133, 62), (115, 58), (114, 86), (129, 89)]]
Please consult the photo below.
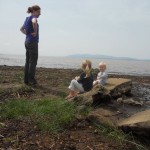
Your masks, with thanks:
[(35, 70), (38, 60), (38, 42), (39, 42), (39, 25), (37, 18), (41, 14), (41, 8), (38, 5), (29, 7), (27, 13), (31, 13), (26, 17), (20, 31), (26, 35), (25, 48), (26, 48), (26, 62), (24, 69), (24, 83), (35, 85)]

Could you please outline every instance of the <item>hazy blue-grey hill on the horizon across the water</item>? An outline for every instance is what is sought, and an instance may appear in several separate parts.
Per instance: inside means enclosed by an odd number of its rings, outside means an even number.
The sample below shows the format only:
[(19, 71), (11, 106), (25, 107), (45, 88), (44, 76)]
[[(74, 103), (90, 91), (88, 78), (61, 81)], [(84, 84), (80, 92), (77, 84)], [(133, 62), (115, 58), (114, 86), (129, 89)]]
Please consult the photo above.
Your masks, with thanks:
[(115, 56), (108, 56), (108, 55), (93, 55), (93, 54), (73, 54), (73, 55), (68, 55), (66, 57), (72, 57), (72, 58), (95, 58), (95, 59), (138, 60), (138, 59), (130, 58), (130, 57), (115, 57)]

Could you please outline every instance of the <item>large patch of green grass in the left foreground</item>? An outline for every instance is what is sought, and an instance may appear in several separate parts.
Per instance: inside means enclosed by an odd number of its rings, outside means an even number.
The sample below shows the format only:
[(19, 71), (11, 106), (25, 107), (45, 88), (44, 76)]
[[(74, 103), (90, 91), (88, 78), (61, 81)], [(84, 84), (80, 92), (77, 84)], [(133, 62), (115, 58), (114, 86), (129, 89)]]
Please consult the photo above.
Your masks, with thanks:
[(0, 106), (3, 119), (29, 119), (41, 131), (63, 130), (74, 118), (76, 106), (63, 99), (11, 100)]

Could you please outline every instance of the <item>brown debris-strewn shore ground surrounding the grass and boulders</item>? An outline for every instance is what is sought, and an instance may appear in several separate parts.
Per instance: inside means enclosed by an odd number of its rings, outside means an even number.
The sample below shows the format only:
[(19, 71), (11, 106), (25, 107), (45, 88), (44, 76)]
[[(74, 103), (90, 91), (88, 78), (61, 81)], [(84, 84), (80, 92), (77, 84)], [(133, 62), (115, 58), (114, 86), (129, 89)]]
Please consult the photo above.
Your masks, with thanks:
[[(23, 84), (23, 67), (18, 66), (0, 66), (0, 104), (14, 99), (40, 99), (43, 97), (60, 96), (65, 97), (68, 93), (70, 80), (79, 75), (81, 70), (74, 69), (54, 69), (54, 68), (37, 68), (36, 78), (39, 83), (37, 87), (31, 89), (25, 88)], [(98, 70), (93, 70), (96, 77)], [(149, 76), (129, 76), (129, 75), (109, 75), (109, 78), (131, 80), (132, 88), (130, 93), (115, 99), (114, 103), (107, 103), (99, 107), (98, 112), (110, 115), (106, 112), (106, 107), (110, 106), (116, 111), (113, 117), (127, 118), (137, 112), (142, 112), (150, 108), (150, 77)], [(120, 99), (119, 99), (120, 98)], [(132, 105), (123, 103), (124, 99), (132, 99), (134, 102), (142, 102), (142, 105)], [(127, 102), (127, 101), (126, 101)], [(135, 103), (134, 103), (135, 104)], [(79, 107), (79, 109), (82, 106)], [(111, 115), (110, 115), (111, 116)], [(135, 144), (126, 143), (120, 145), (104, 137), (97, 132), (97, 128), (92, 125), (91, 121), (93, 112), (88, 117), (82, 118), (76, 116), (76, 120), (69, 129), (57, 135), (41, 133), (39, 130), (32, 128), (30, 122), (18, 122), (17, 120), (3, 120), (0, 117), (0, 148), (3, 149), (41, 149), (41, 150), (116, 150), (116, 149), (137, 149)], [(101, 118), (100, 118), (101, 119)], [(16, 139), (17, 133), (21, 132), (17, 143), (8, 140)], [(14, 130), (17, 131), (14, 133)], [(22, 139), (23, 137), (23, 139)], [(32, 139), (32, 140), (31, 140)], [(32, 141), (32, 142), (31, 142)], [(139, 141), (139, 144), (144, 144)], [(150, 145), (145, 145), (148, 149)]]

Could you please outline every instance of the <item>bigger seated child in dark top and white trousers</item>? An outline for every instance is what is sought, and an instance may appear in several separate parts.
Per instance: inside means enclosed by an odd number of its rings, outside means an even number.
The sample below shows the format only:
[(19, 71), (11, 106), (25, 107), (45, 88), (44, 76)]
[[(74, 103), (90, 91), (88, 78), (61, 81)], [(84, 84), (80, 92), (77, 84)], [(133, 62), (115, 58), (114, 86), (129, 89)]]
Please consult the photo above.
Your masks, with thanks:
[(93, 75), (91, 73), (92, 63), (90, 60), (84, 60), (82, 62), (82, 70), (80, 76), (75, 77), (69, 85), (69, 95), (66, 99), (70, 99), (76, 96), (78, 93), (90, 91), (93, 87)]

